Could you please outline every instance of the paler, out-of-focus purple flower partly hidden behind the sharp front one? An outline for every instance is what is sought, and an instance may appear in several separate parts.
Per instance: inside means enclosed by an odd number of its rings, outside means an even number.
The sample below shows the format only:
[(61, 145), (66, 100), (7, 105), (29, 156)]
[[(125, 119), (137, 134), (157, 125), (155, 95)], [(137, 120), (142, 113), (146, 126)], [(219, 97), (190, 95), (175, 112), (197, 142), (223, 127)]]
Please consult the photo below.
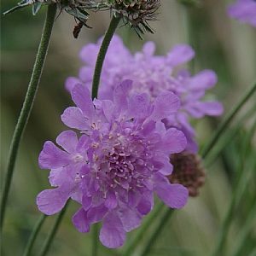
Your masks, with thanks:
[[(80, 59), (86, 64), (81, 67), (79, 78), (70, 77), (66, 81), (67, 90), (72, 90), (74, 84), (83, 83), (91, 86), (92, 74), (96, 63), (96, 55), (102, 39), (97, 44), (87, 44), (80, 52)], [(175, 93), (181, 108), (164, 119), (166, 128), (176, 127), (187, 137), (186, 150), (192, 153), (198, 151), (195, 143), (195, 130), (189, 124), (189, 117), (202, 118), (204, 115), (216, 116), (223, 112), (222, 105), (216, 101), (202, 102), (201, 98), (207, 89), (217, 82), (217, 76), (212, 70), (190, 76), (186, 69), (178, 66), (190, 61), (195, 52), (189, 45), (178, 44), (166, 56), (154, 55), (154, 43), (144, 44), (143, 51), (131, 55), (121, 38), (114, 36), (102, 67), (100, 99), (113, 99), (113, 88), (123, 79), (132, 79), (131, 91), (148, 93), (153, 101), (162, 91)]]

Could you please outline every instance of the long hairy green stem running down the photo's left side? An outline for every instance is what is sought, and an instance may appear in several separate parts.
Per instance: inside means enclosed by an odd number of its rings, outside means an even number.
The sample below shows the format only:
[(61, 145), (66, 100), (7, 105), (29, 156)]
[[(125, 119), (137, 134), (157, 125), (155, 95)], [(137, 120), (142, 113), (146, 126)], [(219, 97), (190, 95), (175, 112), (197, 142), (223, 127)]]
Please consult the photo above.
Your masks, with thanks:
[(11, 183), (14, 168), (15, 168), (15, 160), (18, 153), (20, 139), (25, 130), (26, 122), (29, 117), (29, 114), (31, 113), (32, 104), (34, 102), (36, 92), (38, 90), (39, 80), (43, 72), (44, 61), (49, 48), (49, 40), (50, 40), (53, 24), (55, 21), (56, 9), (57, 9), (56, 4), (49, 4), (46, 19), (44, 22), (44, 30), (43, 30), (41, 42), (38, 47), (38, 55), (32, 70), (32, 77), (26, 91), (26, 98), (23, 103), (17, 125), (15, 127), (14, 136), (12, 138), (10, 151), (9, 151), (9, 160), (7, 164), (7, 171), (5, 173), (5, 177), (3, 181), (3, 189), (2, 189), (2, 196), (1, 196), (1, 206), (0, 206), (1, 207), (1, 221), (0, 221), (1, 229), (3, 227), (4, 212), (5, 212), (6, 203), (9, 195), (10, 183)]

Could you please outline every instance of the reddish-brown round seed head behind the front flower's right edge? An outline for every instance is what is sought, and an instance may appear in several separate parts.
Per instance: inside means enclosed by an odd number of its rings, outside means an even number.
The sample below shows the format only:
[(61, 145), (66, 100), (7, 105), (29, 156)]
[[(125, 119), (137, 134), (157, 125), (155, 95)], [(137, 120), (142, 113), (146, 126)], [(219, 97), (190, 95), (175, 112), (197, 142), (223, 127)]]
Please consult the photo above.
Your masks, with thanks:
[(173, 165), (172, 175), (168, 176), (170, 182), (183, 184), (189, 190), (190, 196), (197, 196), (199, 187), (206, 180), (206, 172), (202, 166), (201, 157), (183, 151), (179, 154), (172, 154), (170, 161)]

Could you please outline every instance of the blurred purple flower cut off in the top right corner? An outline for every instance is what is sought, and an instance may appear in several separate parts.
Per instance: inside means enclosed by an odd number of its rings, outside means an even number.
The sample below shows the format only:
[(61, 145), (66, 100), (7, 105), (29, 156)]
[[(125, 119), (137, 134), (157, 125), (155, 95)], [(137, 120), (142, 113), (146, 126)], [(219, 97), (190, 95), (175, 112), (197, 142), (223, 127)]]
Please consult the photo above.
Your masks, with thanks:
[(235, 4), (230, 5), (228, 14), (256, 26), (256, 1), (255, 0), (238, 0)]

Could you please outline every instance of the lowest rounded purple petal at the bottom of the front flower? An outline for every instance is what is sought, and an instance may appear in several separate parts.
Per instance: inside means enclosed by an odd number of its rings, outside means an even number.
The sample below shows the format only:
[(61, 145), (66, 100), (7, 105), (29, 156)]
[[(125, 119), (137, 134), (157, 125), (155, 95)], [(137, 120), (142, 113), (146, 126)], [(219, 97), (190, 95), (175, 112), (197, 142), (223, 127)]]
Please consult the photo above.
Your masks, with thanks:
[(125, 242), (126, 233), (116, 211), (108, 212), (102, 224), (100, 241), (105, 247), (120, 247)]

